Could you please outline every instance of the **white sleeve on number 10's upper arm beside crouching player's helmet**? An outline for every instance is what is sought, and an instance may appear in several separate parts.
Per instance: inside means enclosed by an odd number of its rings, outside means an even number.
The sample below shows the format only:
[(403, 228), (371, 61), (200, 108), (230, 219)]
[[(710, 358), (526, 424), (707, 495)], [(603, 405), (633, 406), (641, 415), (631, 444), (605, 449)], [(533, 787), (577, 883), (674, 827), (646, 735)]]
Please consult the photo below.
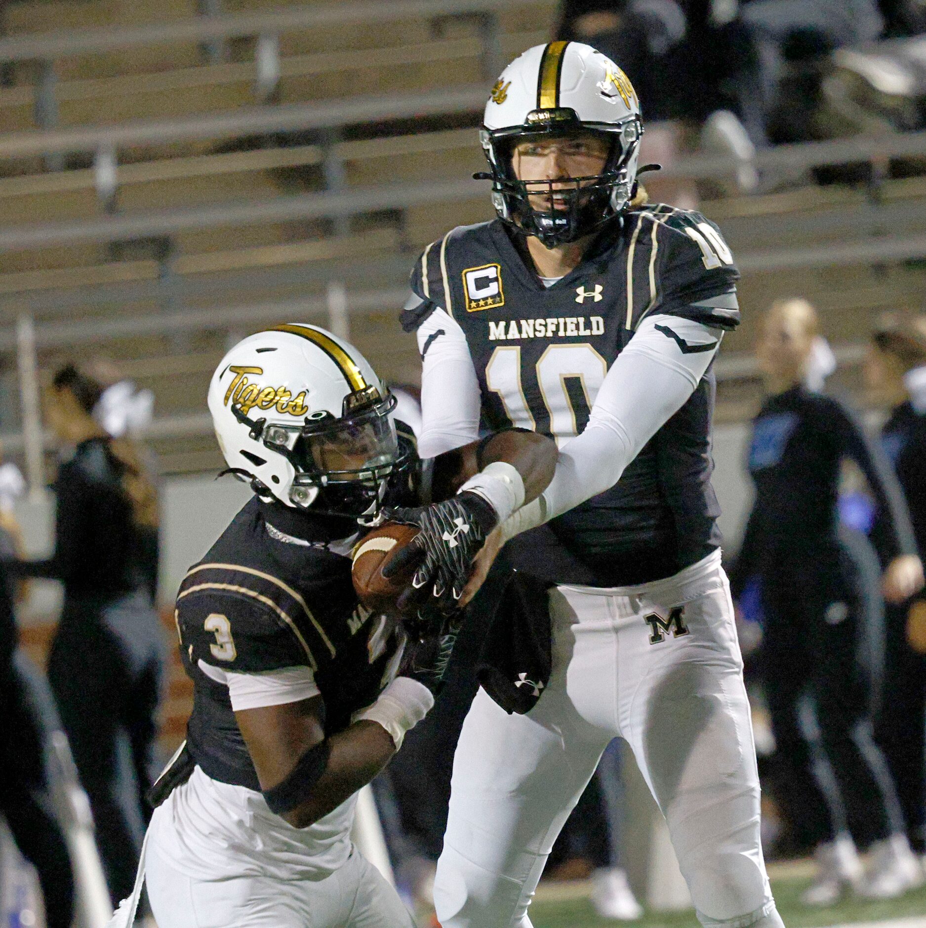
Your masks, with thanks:
[(479, 438), (482, 395), (466, 335), (443, 309), (418, 328), (421, 360), (421, 434), (418, 454), (436, 458)]

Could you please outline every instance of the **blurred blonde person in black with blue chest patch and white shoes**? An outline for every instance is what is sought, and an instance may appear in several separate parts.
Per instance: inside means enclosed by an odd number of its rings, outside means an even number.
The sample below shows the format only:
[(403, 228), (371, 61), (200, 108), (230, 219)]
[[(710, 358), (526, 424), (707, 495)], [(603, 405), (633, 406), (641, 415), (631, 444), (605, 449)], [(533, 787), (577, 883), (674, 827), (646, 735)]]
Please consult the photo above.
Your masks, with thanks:
[[(856, 538), (843, 535), (837, 496), (845, 459), (865, 475), (885, 524), (885, 599), (902, 601), (922, 586), (922, 565), (894, 474), (848, 410), (804, 385), (818, 339), (804, 300), (775, 303), (765, 316), (760, 365), (769, 387), (753, 423), (749, 469), (755, 502), (731, 574), (734, 596), (758, 576), (765, 629), (765, 692), (777, 743), (782, 801), (817, 844), (819, 875), (805, 901), (827, 904), (846, 883), (867, 896), (897, 896), (921, 881), (902, 831), (894, 783), (871, 733), (868, 686), (857, 659), (872, 601), (871, 565)], [(870, 551), (870, 549), (869, 549)], [(841, 833), (839, 803), (814, 777), (802, 730), (811, 697), (820, 741), (855, 842), (870, 846), (862, 877), (855, 847)]]

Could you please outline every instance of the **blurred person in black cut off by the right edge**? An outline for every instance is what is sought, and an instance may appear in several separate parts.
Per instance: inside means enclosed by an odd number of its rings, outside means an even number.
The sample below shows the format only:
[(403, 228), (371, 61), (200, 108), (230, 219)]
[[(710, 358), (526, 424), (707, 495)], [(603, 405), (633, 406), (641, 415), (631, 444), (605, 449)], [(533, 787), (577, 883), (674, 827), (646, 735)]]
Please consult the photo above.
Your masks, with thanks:
[[(926, 550), (926, 319), (886, 320), (872, 334), (866, 379), (893, 406), (881, 445), (907, 497), (920, 551)], [(876, 525), (876, 537), (880, 537)], [(884, 689), (875, 728), (914, 850), (926, 851), (926, 599), (887, 608)], [(902, 707), (902, 708), (901, 708)]]

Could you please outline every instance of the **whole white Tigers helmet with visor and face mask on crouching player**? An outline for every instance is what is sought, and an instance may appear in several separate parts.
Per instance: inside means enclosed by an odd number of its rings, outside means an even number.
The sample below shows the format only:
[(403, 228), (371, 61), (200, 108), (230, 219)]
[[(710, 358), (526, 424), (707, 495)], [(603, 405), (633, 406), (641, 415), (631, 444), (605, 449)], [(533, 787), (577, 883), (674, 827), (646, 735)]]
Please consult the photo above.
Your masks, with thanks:
[(394, 406), (353, 345), (304, 323), (238, 342), (209, 386), (229, 470), (264, 499), (358, 519), (375, 518), (407, 462)]

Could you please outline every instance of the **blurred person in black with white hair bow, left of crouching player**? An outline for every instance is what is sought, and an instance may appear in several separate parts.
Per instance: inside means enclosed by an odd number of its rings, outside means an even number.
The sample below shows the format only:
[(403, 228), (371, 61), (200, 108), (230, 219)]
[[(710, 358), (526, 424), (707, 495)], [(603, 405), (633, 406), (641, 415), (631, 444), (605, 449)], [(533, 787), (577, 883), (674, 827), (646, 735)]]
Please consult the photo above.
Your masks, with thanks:
[(46, 561), (7, 561), (19, 576), (64, 584), (48, 680), (90, 799), (113, 904), (135, 883), (166, 655), (153, 608), (158, 496), (125, 436), (150, 404), (127, 387), (73, 365), (55, 374), (45, 395), (62, 458), (55, 551)]

